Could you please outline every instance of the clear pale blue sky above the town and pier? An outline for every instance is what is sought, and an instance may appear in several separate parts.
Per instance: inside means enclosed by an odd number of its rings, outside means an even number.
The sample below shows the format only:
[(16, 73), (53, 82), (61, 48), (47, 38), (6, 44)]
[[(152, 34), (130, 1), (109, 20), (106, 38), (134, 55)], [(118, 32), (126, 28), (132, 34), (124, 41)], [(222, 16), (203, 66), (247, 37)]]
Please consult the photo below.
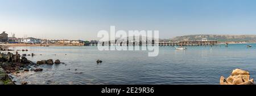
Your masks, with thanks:
[(255, 0), (0, 0), (0, 32), (15, 37), (97, 40), (100, 30), (256, 34)]

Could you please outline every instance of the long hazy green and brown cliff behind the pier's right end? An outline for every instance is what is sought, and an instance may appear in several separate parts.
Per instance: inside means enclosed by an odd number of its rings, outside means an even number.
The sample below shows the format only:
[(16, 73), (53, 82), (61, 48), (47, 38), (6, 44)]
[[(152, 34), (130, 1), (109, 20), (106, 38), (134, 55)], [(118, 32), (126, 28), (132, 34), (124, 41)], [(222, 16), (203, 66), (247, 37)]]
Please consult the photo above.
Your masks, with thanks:
[(218, 35), (218, 34), (196, 34), (188, 36), (179, 36), (171, 38), (170, 41), (187, 41), (187, 40), (217, 40), (218, 42), (234, 42), (234, 43), (255, 43), (256, 35)]

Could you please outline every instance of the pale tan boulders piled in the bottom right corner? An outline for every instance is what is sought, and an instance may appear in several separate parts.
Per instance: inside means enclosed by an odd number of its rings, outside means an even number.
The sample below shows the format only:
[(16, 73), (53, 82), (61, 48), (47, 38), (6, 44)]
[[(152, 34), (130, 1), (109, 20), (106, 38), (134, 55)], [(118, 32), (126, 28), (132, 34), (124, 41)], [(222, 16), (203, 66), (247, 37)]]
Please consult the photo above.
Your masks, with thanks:
[(220, 85), (254, 85), (254, 80), (250, 80), (249, 72), (242, 69), (234, 69), (227, 79), (221, 76)]

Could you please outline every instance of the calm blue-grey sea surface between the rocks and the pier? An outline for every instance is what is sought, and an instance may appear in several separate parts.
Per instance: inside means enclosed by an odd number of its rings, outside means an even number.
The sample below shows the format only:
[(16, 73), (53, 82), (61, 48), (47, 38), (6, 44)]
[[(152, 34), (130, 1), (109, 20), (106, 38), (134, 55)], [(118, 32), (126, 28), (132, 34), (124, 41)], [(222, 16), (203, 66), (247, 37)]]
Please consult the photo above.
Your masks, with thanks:
[[(188, 50), (159, 46), (155, 57), (148, 57), (148, 51), (99, 51), (97, 46), (10, 48), (36, 54), (27, 56), (32, 62), (60, 59), (66, 64), (44, 64), (39, 66), (42, 72), (13, 75), (17, 84), (218, 84), (220, 76), (228, 77), (236, 68), (256, 77), (256, 44), (246, 45), (190, 46)], [(97, 59), (104, 62), (97, 64)]]

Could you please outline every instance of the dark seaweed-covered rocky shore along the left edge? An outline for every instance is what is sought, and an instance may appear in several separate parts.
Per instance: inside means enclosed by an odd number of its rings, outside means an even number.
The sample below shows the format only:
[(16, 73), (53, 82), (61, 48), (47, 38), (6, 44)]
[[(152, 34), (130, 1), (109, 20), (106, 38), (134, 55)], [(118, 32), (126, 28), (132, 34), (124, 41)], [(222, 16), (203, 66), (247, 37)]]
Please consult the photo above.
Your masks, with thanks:
[[(8, 51), (10, 49), (5, 49), (1, 46), (1, 51)], [(11, 50), (14, 51), (14, 50)], [(48, 60), (40, 60), (36, 63), (31, 62), (26, 58), (28, 56), (27, 54), (20, 55), (18, 51), (23, 50), (16, 50), (16, 53), (10, 53), (7, 54), (0, 52), (0, 85), (14, 85), (15, 81), (12, 81), (12, 78), (9, 74), (10, 73), (20, 73), (20, 72), (28, 72), (28, 71), (43, 71), (42, 68), (38, 68), (41, 64), (60, 64), (60, 60), (57, 59), (55, 62), (53, 62), (52, 59)], [(28, 51), (28, 50), (24, 50)], [(29, 54), (30, 55), (30, 54)], [(34, 56), (35, 54), (31, 54), (31, 56)], [(64, 63), (62, 63), (64, 64)], [(20, 84), (26, 85), (28, 82), (22, 81)]]

